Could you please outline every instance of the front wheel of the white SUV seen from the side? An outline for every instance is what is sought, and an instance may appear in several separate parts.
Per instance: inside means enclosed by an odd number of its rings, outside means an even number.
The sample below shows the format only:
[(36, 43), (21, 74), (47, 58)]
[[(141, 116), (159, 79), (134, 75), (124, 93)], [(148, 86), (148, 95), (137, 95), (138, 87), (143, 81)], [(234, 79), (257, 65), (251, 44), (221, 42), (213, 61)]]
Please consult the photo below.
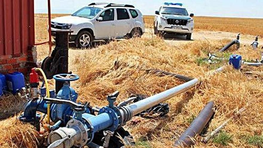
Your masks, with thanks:
[(93, 36), (89, 31), (81, 31), (76, 38), (77, 48), (90, 48), (93, 42)]

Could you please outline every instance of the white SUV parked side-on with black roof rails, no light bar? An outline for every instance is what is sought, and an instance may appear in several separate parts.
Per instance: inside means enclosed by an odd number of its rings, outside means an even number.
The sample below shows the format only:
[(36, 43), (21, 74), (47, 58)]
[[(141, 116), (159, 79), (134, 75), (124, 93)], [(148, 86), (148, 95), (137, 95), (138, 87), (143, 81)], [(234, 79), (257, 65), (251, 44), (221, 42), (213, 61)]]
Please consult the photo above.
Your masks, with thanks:
[(51, 29), (72, 30), (69, 41), (87, 48), (95, 40), (140, 37), (144, 21), (142, 13), (132, 5), (91, 3), (71, 16), (52, 19)]

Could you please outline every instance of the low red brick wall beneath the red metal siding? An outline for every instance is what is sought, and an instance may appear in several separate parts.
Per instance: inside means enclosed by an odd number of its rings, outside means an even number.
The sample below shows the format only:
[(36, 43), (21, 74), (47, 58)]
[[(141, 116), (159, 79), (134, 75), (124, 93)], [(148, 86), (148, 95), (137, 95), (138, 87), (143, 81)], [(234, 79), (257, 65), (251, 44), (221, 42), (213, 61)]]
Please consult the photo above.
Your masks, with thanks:
[(0, 73), (19, 71), (28, 74), (30, 69), (36, 67), (36, 47), (28, 50), (27, 54), (0, 56)]

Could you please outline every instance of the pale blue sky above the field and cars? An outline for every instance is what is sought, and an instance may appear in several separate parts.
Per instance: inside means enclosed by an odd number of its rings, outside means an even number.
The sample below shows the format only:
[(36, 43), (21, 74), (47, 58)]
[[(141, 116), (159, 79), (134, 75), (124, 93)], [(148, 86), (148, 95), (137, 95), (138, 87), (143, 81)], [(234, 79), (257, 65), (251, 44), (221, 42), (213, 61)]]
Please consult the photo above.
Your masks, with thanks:
[[(47, 13), (47, 0), (34, 1), (35, 13)], [(74, 13), (92, 2), (132, 4), (143, 15), (154, 15), (164, 2), (178, 2), (195, 16), (263, 18), (263, 0), (51, 0), (51, 13)]]

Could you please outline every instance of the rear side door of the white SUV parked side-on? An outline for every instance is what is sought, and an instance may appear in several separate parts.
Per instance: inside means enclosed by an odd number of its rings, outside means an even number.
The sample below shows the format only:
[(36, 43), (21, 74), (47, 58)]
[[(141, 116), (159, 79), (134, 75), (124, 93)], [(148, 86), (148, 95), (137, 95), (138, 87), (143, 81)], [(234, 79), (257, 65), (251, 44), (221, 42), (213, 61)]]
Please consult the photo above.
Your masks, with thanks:
[(123, 38), (127, 33), (132, 31), (134, 25), (133, 19), (130, 18), (129, 10), (126, 8), (116, 8), (117, 20), (115, 23), (114, 36)]

